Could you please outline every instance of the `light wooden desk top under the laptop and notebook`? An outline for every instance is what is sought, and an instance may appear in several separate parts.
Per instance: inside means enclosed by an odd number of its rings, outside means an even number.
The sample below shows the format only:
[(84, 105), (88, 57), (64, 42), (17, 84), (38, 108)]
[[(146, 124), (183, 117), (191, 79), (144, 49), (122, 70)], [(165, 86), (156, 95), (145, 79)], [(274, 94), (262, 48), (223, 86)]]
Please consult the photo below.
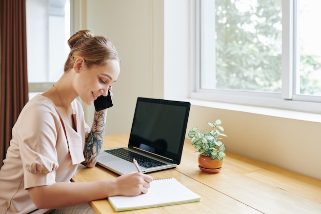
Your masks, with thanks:
[[(108, 135), (103, 148), (127, 146), (128, 134)], [(200, 171), (197, 153), (186, 139), (181, 163), (175, 169), (153, 172), (154, 179), (173, 177), (202, 196), (201, 202), (126, 213), (321, 213), (321, 181), (226, 152), (223, 168)], [(79, 165), (74, 182), (115, 178), (100, 166)], [(107, 199), (90, 202), (96, 213), (115, 213)]]

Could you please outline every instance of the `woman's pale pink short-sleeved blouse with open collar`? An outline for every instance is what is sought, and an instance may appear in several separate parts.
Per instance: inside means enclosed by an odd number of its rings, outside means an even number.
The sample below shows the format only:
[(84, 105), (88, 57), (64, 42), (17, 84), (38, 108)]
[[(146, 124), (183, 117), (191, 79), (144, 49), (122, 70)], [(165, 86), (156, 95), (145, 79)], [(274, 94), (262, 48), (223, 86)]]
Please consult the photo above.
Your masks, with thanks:
[(52, 101), (36, 95), (21, 111), (0, 170), (0, 213), (36, 210), (27, 188), (68, 182), (83, 162), (90, 131), (81, 104), (72, 102), (76, 131), (64, 123)]

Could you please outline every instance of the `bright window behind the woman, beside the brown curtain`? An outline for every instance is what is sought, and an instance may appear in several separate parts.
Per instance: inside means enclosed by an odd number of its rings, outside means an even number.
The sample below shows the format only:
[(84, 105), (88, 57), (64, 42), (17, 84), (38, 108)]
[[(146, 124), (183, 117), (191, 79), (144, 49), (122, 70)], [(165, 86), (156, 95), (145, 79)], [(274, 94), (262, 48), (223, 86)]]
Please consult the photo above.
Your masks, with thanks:
[(69, 5), (69, 0), (26, 1), (29, 99), (63, 74), (70, 50)]

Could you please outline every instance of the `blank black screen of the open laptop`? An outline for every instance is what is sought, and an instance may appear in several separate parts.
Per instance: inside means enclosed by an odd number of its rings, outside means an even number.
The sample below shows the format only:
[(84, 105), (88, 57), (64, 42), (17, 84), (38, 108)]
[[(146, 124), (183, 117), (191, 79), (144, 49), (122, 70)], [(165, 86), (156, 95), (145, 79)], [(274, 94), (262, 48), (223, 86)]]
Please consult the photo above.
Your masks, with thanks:
[(138, 98), (128, 147), (179, 164), (189, 110), (189, 102)]

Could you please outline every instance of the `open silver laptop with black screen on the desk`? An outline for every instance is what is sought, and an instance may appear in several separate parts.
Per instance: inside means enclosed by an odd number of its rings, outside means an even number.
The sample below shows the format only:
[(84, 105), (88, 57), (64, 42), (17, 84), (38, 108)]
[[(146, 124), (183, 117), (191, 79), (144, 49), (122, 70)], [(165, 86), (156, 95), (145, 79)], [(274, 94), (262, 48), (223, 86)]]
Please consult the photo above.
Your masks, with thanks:
[(104, 149), (97, 164), (117, 174), (174, 168), (180, 163), (191, 104), (137, 98), (128, 147)]

